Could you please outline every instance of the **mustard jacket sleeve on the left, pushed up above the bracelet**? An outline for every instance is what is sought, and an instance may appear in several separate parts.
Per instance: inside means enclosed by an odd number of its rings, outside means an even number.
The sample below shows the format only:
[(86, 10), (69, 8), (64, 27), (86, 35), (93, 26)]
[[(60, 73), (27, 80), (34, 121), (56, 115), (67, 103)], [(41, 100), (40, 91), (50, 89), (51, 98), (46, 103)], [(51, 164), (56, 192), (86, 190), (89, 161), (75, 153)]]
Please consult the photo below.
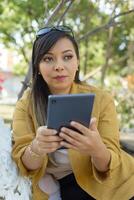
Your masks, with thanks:
[(29, 109), (30, 90), (26, 90), (23, 97), (17, 102), (13, 115), (13, 150), (12, 157), (15, 160), (21, 175), (23, 176), (43, 176), (47, 157), (40, 170), (28, 170), (21, 160), (21, 157), (27, 146), (34, 139), (36, 134), (36, 125), (32, 112)]

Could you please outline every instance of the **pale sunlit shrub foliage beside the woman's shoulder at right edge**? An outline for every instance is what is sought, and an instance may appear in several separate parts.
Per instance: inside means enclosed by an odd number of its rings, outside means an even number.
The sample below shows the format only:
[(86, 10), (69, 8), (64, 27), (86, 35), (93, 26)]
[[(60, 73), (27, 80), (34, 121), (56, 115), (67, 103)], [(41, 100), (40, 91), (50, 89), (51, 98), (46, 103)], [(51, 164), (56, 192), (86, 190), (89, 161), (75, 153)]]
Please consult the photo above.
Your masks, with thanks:
[(134, 84), (130, 87), (126, 78), (111, 75), (105, 85), (114, 97), (121, 132), (134, 132)]

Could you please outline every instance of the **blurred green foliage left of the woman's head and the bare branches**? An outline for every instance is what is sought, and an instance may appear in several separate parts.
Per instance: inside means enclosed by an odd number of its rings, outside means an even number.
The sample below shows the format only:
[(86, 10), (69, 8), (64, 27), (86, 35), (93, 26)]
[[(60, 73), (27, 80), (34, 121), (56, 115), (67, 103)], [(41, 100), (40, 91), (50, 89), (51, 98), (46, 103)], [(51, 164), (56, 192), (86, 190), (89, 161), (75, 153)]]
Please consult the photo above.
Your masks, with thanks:
[(6, 47), (22, 54), (28, 63), (30, 57), (27, 52), (32, 47), (35, 30), (43, 22), (44, 1), (2, 0), (0, 5), (0, 40)]

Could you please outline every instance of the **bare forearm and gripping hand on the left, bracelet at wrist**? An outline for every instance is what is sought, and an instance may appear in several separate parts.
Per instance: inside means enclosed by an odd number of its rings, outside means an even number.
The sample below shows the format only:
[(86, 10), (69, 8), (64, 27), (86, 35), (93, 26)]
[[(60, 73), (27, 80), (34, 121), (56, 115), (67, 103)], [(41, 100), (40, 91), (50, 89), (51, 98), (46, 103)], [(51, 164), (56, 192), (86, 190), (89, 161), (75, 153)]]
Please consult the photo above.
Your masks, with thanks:
[(56, 136), (56, 133), (56, 130), (47, 129), (45, 126), (37, 129), (34, 140), (22, 155), (22, 162), (27, 169), (36, 170), (41, 168), (43, 158), (47, 153), (54, 152), (60, 147), (62, 139)]

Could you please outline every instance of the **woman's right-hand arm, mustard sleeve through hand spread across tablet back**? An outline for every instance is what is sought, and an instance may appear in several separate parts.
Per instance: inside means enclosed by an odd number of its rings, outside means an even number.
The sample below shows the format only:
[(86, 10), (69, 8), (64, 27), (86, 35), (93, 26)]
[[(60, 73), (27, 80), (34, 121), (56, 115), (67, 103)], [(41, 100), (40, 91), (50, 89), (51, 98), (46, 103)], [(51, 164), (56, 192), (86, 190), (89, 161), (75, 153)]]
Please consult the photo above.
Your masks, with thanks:
[[(104, 96), (103, 96), (104, 95)], [(79, 129), (80, 135), (69, 129), (62, 129), (60, 136), (68, 143), (62, 145), (89, 154), (93, 166), (100, 172), (114, 169), (120, 164), (119, 127), (113, 99), (107, 93), (100, 98), (98, 125), (91, 122), (89, 129), (79, 123), (72, 126)], [(96, 106), (96, 104), (95, 104)]]

